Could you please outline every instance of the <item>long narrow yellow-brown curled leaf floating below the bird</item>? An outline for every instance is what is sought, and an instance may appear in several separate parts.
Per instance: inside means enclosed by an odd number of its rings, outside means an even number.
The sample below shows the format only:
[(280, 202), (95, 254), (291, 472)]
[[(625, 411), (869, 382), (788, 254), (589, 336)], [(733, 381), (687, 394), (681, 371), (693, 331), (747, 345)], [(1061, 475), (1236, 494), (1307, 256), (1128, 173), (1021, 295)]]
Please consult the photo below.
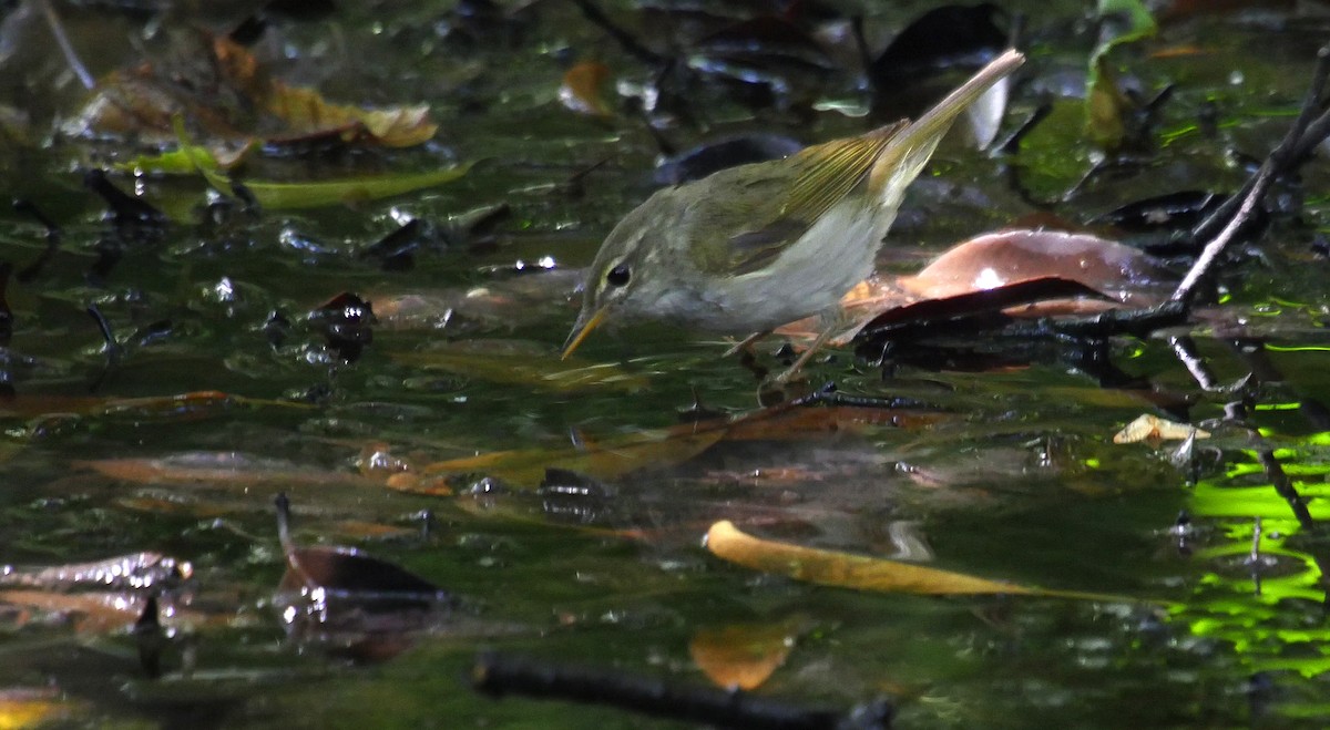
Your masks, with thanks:
[(706, 532), (706, 549), (722, 560), (753, 570), (857, 590), (923, 596), (1023, 594), (1115, 602), (1132, 600), (1099, 593), (1048, 590), (894, 560), (762, 540), (739, 532), (729, 520), (716, 523)]

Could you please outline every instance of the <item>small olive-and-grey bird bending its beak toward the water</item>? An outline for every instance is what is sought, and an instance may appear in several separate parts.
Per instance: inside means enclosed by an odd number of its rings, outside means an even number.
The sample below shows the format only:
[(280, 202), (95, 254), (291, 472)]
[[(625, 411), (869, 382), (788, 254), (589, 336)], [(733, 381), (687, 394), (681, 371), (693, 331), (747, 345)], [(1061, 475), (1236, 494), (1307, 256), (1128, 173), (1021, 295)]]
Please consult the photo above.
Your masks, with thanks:
[(563, 356), (606, 320), (669, 320), (747, 344), (819, 315), (783, 383), (837, 331), (841, 298), (872, 273), (906, 187), (951, 124), (1024, 60), (1001, 53), (918, 121), (656, 191), (596, 254)]

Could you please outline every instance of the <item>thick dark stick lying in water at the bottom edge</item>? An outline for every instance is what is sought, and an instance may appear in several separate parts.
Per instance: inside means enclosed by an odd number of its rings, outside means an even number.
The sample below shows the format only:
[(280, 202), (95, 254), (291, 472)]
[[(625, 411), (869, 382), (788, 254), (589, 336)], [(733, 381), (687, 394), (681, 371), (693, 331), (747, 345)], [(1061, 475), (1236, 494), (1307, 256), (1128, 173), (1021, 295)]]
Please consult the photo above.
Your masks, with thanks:
[(523, 694), (610, 705), (656, 717), (745, 730), (870, 730), (891, 723), (891, 705), (884, 699), (842, 714), (739, 691), (681, 687), (621, 671), (551, 665), (492, 653), (476, 658), (471, 683), (477, 691), (496, 698)]

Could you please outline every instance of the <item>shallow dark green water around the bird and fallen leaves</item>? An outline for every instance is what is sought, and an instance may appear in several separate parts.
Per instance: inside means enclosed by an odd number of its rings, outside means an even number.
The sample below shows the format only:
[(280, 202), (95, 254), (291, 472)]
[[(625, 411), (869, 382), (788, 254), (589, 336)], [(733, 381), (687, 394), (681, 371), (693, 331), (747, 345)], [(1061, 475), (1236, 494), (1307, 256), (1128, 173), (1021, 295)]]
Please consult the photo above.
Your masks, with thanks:
[[(658, 23), (606, 5), (629, 28)], [(1081, 92), (1093, 43), (1081, 3), (1027, 5), (1031, 64), (1004, 129), (1044, 98), (1079, 112), (1065, 97)], [(870, 39), (927, 7), (874, 9)], [(138, 57), (129, 39), (152, 45), (176, 23), (64, 11), (97, 74)], [(1116, 339), (1099, 360), (1067, 343), (975, 335), (887, 367), (841, 348), (810, 368), (811, 383), (903, 400), (815, 404), (713, 439), (678, 424), (700, 410), (757, 411), (757, 379), (720, 358), (716, 338), (638, 326), (597, 332), (575, 360), (557, 359), (577, 267), (649, 194), (658, 152), (617, 102), (606, 118), (560, 105), (577, 60), (604, 61), (620, 89), (649, 80), (573, 7), (513, 11), (524, 25), (504, 31), (520, 33), (512, 41), (448, 35), (440, 19), (456, 20), (452, 8), (424, 3), (278, 21), (255, 53), (286, 59), (274, 70), (289, 82), (347, 102), (428, 102), (440, 132), (416, 149), (257, 160), (246, 180), (484, 162), (382, 202), (219, 223), (201, 222), (207, 198), (196, 177), (113, 176), (174, 218), (129, 238), (100, 281), (88, 273), (113, 231), (81, 186), (82, 168), (137, 150), (51, 132), (82, 94), (39, 40), (45, 27), (4, 12), (0, 40), (16, 51), (0, 55), (11, 80), (3, 102), (28, 122), (0, 133), (0, 187), (56, 221), (61, 246), (7, 290), (15, 324), (0, 372), (15, 396), (0, 403), (0, 564), (40, 570), (152, 550), (188, 561), (192, 574), (162, 597), (156, 679), (130, 633), (148, 592), (0, 585), (0, 721), (35, 706), (56, 726), (688, 726), (493, 701), (467, 675), (479, 650), (495, 649), (706, 687), (716, 679), (697, 657), (713, 642), (778, 661), (758, 695), (842, 710), (887, 697), (900, 726), (1325, 723), (1326, 550), (1315, 523), (1327, 517), (1330, 424), (1318, 404), (1330, 386), (1326, 261), (1311, 246), (1326, 226), (1322, 161), (1303, 168), (1301, 187), (1278, 190), (1283, 213), (1225, 279), (1222, 306), (1188, 330)], [(1158, 129), (1166, 144), (1053, 211), (1087, 222), (1150, 194), (1238, 185), (1248, 170), (1228, 150), (1258, 157), (1277, 141), (1326, 29), (1291, 11), (1198, 13), (1123, 49), (1146, 88), (1177, 84)], [(867, 125), (835, 110), (754, 112), (716, 85), (697, 94), (706, 129), (657, 120), (678, 149), (739, 132), (815, 141)], [(821, 94), (825, 109), (866, 104), (850, 81)], [(1218, 108), (1213, 137), (1196, 122), (1204, 100)], [(1017, 158), (954, 136), (907, 195), (882, 267), (916, 270), (1031, 214), (1011, 165), (1032, 197), (1068, 190), (1089, 165), (1077, 136), (1039, 128)], [(492, 230), (468, 229), (468, 213), (500, 203)], [(408, 270), (362, 255), (403, 217), (462, 233), (427, 241)], [(44, 235), (33, 217), (0, 211), (0, 259), (16, 269), (37, 258)], [(309, 316), (344, 291), (376, 315), (354, 358)], [(114, 334), (114, 354), (89, 306)], [(1165, 338), (1186, 331), (1220, 384), (1258, 374), (1246, 406), (1261, 440), (1212, 420), (1236, 396), (1197, 386)], [(759, 363), (779, 367), (774, 350), (763, 344)], [(1096, 370), (1104, 356), (1116, 371)], [(217, 394), (173, 399), (200, 391)], [(1176, 441), (1112, 443), (1140, 414), (1168, 415), (1161, 403), (1214, 437), (1181, 459)], [(652, 437), (669, 428), (674, 437)], [(1307, 500), (1310, 523), (1271, 487), (1262, 448)], [(426, 468), (442, 461), (447, 479)], [(539, 491), (549, 467), (592, 479), (556, 475), (573, 489)], [(390, 612), (386, 628), (335, 606), (305, 613), (307, 602), (278, 592), (278, 492), (293, 501), (298, 544), (366, 550), (440, 586), (451, 605)], [(1101, 597), (817, 586), (708, 553), (701, 537), (718, 520), (858, 554), (904, 547), (935, 568)], [(96, 608), (104, 596), (110, 608)], [(36, 699), (21, 705), (20, 693)]]

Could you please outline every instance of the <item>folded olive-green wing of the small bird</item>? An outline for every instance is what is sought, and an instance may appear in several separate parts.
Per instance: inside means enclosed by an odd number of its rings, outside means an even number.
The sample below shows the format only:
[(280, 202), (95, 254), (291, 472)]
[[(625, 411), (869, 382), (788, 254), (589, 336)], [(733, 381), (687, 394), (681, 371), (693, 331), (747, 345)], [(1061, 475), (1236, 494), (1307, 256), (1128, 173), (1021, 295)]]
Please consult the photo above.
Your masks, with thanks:
[(781, 162), (713, 176), (712, 193), (726, 203), (706, 205), (702, 219), (694, 222), (698, 269), (741, 275), (767, 266), (868, 176), (906, 125), (900, 121), (806, 148)]

